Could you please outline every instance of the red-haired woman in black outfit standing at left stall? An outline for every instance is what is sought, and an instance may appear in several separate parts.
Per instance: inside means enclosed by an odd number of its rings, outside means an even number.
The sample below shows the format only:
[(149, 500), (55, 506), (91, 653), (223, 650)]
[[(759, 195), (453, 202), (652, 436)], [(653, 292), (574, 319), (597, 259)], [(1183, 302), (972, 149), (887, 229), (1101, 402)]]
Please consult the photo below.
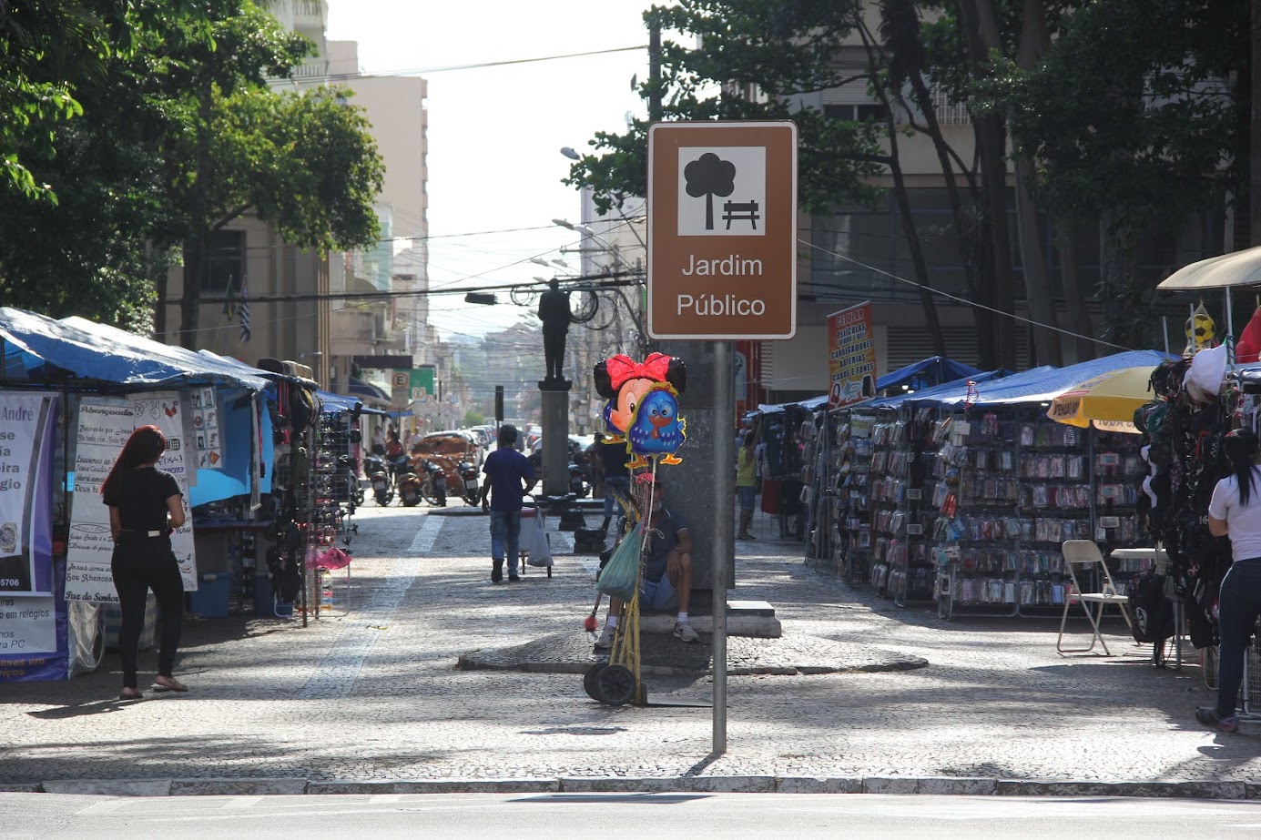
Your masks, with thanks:
[(121, 700), (144, 696), (136, 687), (136, 658), (145, 622), (145, 598), (150, 589), (161, 610), (154, 687), (188, 691), (187, 685), (171, 676), (184, 619), (184, 583), (170, 547), (170, 532), (184, 525), (184, 505), (175, 477), (155, 467), (165, 450), (166, 438), (158, 426), (140, 426), (131, 433), (101, 486), (101, 496), (110, 507), (110, 534), (113, 536), (110, 568), (122, 609), (119, 631)]

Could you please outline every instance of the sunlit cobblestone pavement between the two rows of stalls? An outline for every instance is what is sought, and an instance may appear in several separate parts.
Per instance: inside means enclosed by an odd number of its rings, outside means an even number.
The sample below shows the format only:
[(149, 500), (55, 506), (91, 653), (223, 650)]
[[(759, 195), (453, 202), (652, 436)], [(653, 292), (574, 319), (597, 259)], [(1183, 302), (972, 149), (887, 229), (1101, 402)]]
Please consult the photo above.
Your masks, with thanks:
[[(518, 584), (492, 585), (485, 517), (369, 503), (361, 510), (351, 586), (338, 588), (339, 608), (349, 609), (305, 628), (246, 614), (189, 622), (178, 668), (192, 686), (187, 695), (115, 700), (116, 655), (69, 682), (0, 686), (0, 787), (64, 790), (55, 779), (527, 786), (607, 777), (686, 777), (695, 787), (731, 777), (960, 777), (982, 788), (990, 781), (984, 790), (992, 779), (1233, 782), (1213, 790), (1261, 796), (1258, 729), (1200, 728), (1193, 710), (1211, 692), (1199, 668), (1151, 667), (1150, 648), (1122, 636), (1122, 623), (1110, 626), (1119, 656), (1061, 657), (1054, 619), (943, 622), (928, 608), (899, 609), (811, 570), (798, 544), (772, 539), (774, 522), (759, 520), (763, 539), (736, 544), (733, 597), (770, 602), (783, 638), (733, 638), (736, 658), (854, 665), (919, 657), (927, 667), (730, 676), (729, 747), (712, 757), (710, 709), (609, 708), (586, 697), (576, 674), (456, 667), (462, 655), (580, 657), (595, 557), (560, 554), (552, 578), (528, 569)], [(554, 535), (557, 546), (566, 537)], [(692, 674), (646, 680), (649, 697), (707, 696), (702, 650), (680, 655)], [(144, 655), (141, 667), (154, 661)], [(863, 790), (927, 790), (898, 785)], [(1213, 795), (1203, 785), (1183, 787)]]

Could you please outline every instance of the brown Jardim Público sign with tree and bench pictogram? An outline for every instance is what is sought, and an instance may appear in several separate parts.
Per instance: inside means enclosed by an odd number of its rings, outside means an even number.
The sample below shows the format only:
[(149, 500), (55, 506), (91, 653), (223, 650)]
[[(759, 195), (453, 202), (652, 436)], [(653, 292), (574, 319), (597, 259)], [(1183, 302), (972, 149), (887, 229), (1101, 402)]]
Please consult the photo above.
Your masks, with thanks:
[(648, 130), (648, 334), (797, 332), (797, 126), (657, 122)]

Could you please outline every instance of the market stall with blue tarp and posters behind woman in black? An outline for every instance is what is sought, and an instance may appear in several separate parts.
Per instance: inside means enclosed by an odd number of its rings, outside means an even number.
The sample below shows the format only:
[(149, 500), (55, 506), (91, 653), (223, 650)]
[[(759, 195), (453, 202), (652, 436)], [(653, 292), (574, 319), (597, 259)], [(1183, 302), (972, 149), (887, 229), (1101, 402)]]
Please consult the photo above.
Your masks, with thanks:
[[(40, 621), (53, 613), (59, 617), (55, 639), (44, 632), (37, 645), (24, 648), (24, 656), (9, 657), (3, 679), (55, 679), (74, 667), (95, 667), (103, 645), (101, 605), (116, 602), (108, 570), (107, 508), (97, 489), (121, 444), (137, 425), (163, 429), (170, 445), (160, 465), (177, 477), (188, 505), (197, 492), (214, 492), (208, 488), (228, 460), (223, 449), (227, 426), (218, 414), (221, 391), (243, 397), (251, 406), (245, 415), (248, 419), (257, 416), (253, 396), (266, 381), (184, 348), (81, 318), (53, 320), (11, 308), (0, 308), (0, 349), (5, 399), (43, 399), (45, 417), (54, 417), (32, 438), (47, 465), (42, 462), (34, 470), (38, 481), (26, 486), (21, 506), (37, 512), (47, 506), (47, 515), (29, 516), (37, 530), (28, 531), (23, 545), (35, 546), (35, 555), (28, 556), (35, 561), (38, 555), (35, 565), (43, 566), (37, 581), (50, 580), (52, 589), (26, 594), (52, 598), (55, 609), (35, 609)], [(24, 414), (29, 409), (14, 410)], [(208, 416), (208, 411), (213, 414)], [(202, 420), (200, 426), (194, 425), (194, 417)], [(250, 449), (245, 452), (247, 464), (253, 463)], [(45, 542), (48, 554), (39, 551)], [(200, 581), (192, 527), (177, 530), (171, 542), (185, 590), (197, 593)], [(48, 667), (33, 666), (39, 658), (34, 655), (48, 655)]]

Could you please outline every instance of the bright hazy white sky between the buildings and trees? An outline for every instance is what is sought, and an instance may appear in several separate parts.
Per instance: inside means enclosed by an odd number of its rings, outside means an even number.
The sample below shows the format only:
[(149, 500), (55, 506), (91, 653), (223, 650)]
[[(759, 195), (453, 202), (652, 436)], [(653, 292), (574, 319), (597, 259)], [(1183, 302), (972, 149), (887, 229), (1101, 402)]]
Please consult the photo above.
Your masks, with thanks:
[[(356, 40), (367, 73), (409, 71), (429, 81), (429, 276), (434, 288), (530, 281), (546, 270), (531, 256), (560, 257), (578, 235), (578, 192), (561, 146), (585, 149), (596, 131), (618, 131), (646, 111), (630, 78), (647, 74), (647, 50), (422, 72), (453, 64), (543, 58), (648, 43), (651, 0), (329, 0), (328, 38)], [(509, 228), (537, 228), (499, 233)], [(456, 235), (456, 236), (453, 236)], [(565, 257), (576, 266), (576, 259)], [(521, 265), (512, 265), (525, 260)], [(514, 323), (507, 294), (497, 306), (434, 299), (444, 333), (482, 334)]]

